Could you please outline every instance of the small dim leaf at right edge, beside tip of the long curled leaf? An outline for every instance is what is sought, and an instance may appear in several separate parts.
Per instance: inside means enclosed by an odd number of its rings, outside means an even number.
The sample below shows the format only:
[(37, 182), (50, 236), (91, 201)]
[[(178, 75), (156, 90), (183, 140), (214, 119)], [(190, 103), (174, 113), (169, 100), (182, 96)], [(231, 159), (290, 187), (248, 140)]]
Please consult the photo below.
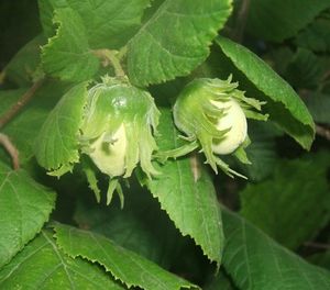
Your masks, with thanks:
[(330, 96), (318, 92), (310, 93), (305, 98), (305, 103), (315, 122), (330, 125)]

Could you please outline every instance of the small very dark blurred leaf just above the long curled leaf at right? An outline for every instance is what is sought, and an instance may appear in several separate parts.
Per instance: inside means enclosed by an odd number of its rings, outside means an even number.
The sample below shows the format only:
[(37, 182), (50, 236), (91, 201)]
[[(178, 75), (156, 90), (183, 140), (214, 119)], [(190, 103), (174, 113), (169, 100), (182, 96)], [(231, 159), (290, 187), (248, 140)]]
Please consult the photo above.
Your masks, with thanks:
[(321, 59), (306, 48), (298, 48), (287, 66), (286, 79), (296, 88), (316, 89), (322, 74)]

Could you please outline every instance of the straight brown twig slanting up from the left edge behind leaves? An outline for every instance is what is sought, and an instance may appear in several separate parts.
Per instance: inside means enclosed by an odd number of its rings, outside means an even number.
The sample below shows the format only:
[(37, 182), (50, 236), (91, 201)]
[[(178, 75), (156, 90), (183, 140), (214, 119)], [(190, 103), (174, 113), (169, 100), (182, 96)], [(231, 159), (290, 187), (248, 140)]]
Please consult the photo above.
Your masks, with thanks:
[(40, 79), (14, 103), (1, 118), (0, 129), (2, 129), (19, 111), (33, 98), (35, 91), (42, 86), (44, 79)]

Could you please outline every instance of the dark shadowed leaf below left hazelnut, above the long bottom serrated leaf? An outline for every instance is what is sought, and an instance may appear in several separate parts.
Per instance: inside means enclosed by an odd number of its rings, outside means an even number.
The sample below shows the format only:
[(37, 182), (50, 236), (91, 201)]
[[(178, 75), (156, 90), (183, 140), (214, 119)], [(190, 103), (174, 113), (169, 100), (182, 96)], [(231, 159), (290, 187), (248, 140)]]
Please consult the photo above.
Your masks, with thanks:
[(90, 200), (78, 202), (75, 221), (79, 227), (102, 234), (168, 268), (180, 250), (182, 236), (161, 210), (157, 200), (134, 182), (124, 190), (125, 204), (106, 207)]

